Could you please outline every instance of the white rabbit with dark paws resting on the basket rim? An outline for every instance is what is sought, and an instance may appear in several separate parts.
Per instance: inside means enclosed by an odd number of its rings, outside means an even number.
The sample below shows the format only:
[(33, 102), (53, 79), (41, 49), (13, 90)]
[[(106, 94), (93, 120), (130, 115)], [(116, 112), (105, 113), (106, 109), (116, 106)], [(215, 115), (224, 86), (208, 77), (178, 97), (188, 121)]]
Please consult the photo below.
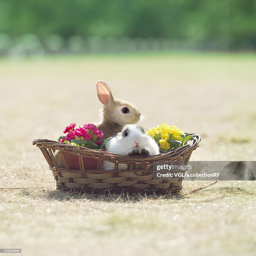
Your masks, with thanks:
[[(106, 142), (105, 147), (107, 152), (118, 155), (142, 155), (148, 157), (159, 154), (157, 143), (145, 133), (142, 126), (136, 124), (125, 125), (120, 133)], [(114, 169), (114, 165), (114, 163), (103, 161), (102, 169)], [(118, 165), (120, 170), (126, 168), (126, 164)], [(142, 172), (137, 172), (136, 174), (141, 175)]]

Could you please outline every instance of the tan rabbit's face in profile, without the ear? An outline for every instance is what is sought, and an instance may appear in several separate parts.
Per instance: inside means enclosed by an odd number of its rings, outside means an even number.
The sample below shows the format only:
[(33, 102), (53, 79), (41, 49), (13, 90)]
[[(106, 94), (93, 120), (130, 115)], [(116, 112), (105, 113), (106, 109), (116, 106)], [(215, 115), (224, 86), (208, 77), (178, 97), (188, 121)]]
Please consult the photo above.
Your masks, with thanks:
[(108, 108), (108, 120), (119, 125), (136, 124), (140, 120), (141, 113), (138, 109), (123, 100), (114, 100), (113, 105)]

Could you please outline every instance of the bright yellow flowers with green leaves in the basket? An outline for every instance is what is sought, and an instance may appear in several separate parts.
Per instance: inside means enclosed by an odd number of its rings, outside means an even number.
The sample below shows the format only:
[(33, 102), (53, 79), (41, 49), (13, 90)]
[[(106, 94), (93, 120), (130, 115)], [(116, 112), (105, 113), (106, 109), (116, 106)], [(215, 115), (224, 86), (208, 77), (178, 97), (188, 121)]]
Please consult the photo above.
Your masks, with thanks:
[(182, 146), (191, 138), (191, 135), (186, 136), (185, 133), (175, 125), (169, 126), (166, 123), (162, 123), (156, 128), (149, 129), (146, 134), (152, 136), (164, 153)]

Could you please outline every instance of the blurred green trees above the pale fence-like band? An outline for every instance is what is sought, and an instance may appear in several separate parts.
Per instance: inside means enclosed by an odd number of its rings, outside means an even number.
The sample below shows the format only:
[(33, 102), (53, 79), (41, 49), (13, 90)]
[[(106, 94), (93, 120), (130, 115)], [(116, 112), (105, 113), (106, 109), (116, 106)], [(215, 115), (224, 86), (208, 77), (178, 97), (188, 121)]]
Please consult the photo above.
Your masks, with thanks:
[(195, 49), (256, 49), (256, 0), (0, 0), (0, 33), (163, 37)]

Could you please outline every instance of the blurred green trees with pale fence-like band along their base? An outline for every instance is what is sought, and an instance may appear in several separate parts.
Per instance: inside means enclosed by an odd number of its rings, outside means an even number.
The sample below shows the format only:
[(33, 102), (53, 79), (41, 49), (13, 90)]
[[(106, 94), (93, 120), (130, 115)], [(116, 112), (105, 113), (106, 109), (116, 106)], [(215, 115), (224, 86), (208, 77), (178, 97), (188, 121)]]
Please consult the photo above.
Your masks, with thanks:
[(256, 0), (0, 0), (0, 54), (255, 50)]

